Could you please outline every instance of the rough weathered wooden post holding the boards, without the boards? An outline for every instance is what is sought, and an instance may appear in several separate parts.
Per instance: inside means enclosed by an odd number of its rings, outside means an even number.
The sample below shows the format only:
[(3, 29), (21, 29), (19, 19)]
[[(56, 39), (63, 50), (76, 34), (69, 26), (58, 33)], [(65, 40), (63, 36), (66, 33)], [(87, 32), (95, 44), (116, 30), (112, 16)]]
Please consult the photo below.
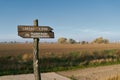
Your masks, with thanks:
[[(34, 21), (34, 27), (38, 27), (38, 20)], [(33, 38), (33, 68), (35, 80), (41, 80), (39, 64), (39, 38)]]

